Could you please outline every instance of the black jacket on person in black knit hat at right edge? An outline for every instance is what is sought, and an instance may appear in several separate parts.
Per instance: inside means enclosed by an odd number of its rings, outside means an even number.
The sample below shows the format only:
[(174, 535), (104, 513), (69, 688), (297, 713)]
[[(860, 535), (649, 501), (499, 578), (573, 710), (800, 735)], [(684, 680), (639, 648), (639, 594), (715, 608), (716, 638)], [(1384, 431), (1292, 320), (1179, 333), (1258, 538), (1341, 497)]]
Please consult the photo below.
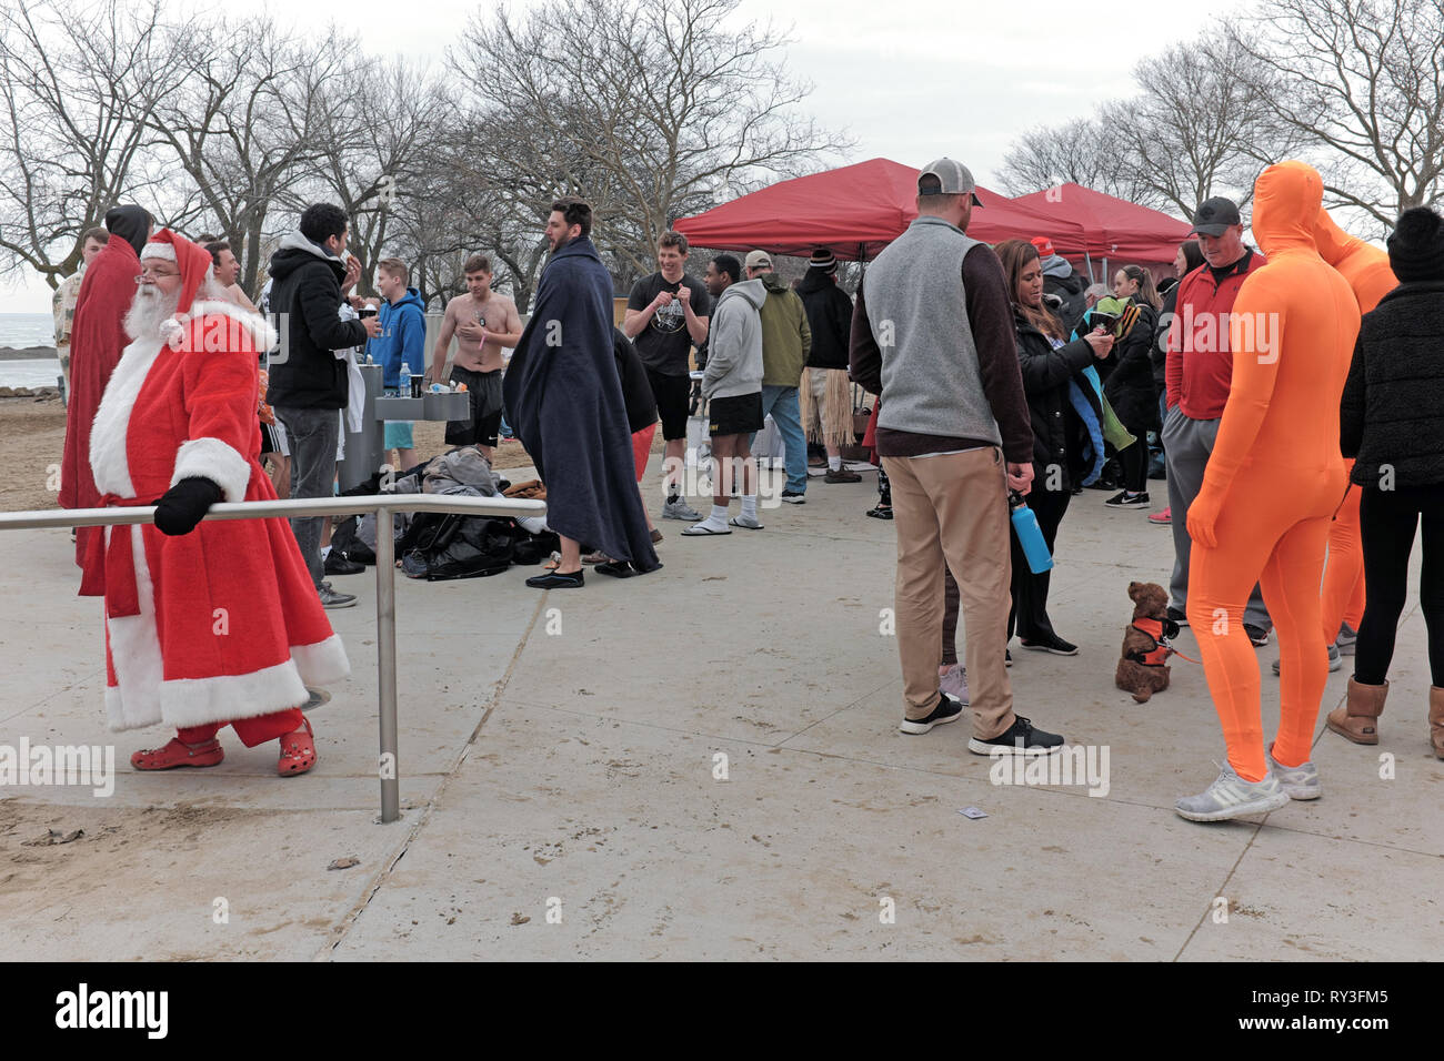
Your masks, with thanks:
[(1350, 476), (1396, 486), (1444, 482), (1444, 281), (1399, 284), (1363, 315), (1339, 403), (1339, 447)]

